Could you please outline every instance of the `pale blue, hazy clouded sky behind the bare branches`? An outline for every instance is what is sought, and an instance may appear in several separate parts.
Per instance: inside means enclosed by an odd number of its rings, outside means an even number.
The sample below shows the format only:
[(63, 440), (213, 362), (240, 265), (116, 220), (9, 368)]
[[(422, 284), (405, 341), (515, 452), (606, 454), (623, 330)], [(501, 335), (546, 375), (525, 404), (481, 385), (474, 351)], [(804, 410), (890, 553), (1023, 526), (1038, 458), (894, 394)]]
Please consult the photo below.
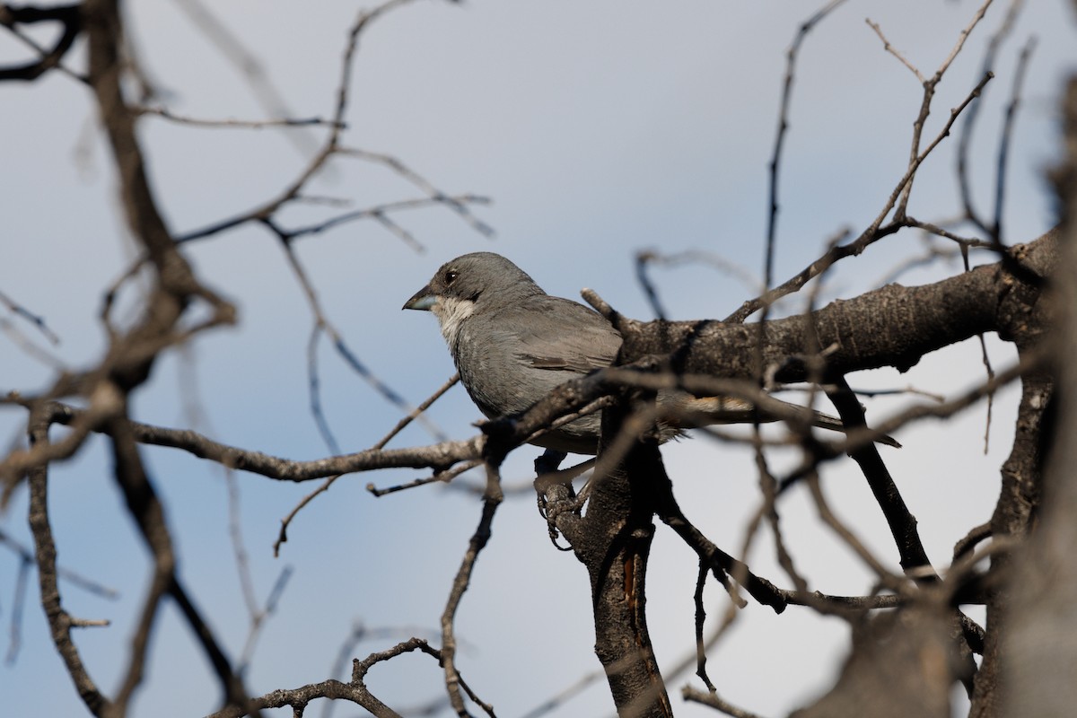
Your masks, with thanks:
[[(241, 73), (181, 8), (160, 2), (128, 8), (139, 56), (168, 107), (206, 118), (266, 116)], [(496, 236), (482, 237), (454, 214), (432, 208), (394, 215), (424, 252), (373, 222), (304, 239), (297, 253), (328, 319), (378, 377), (417, 404), (451, 375), (452, 366), (433, 318), (400, 307), (442, 262), (464, 252), (501, 252), (551, 294), (578, 297), (588, 286), (639, 318), (649, 316), (633, 278), (639, 250), (705, 250), (758, 277), (784, 53), (813, 9), (793, 0), (661, 6), (470, 0), (461, 5), (416, 2), (379, 19), (362, 38), (346, 143), (392, 154), (448, 194), (491, 198), (491, 205), (474, 212)], [(927, 137), (975, 85), (984, 44), (1005, 10), (991, 8), (940, 84)], [(931, 73), (974, 11), (967, 2), (848, 2), (807, 39), (782, 168), (777, 277), (788, 277), (821, 254), (840, 228), (866, 226), (905, 169), (920, 83), (883, 52), (865, 17), (878, 22), (895, 47)], [(276, 0), (218, 3), (213, 12), (261, 61), (294, 116), (331, 113), (354, 3), (316, 3), (304, 8), (302, 17), (293, 4)], [(1030, 36), (1038, 44), (1013, 135), (1004, 213), (1012, 242), (1033, 239), (1054, 221), (1045, 170), (1058, 157), (1058, 98), (1066, 72), (1074, 70), (1069, 4), (1029, 3), (1002, 50), (973, 142), (976, 198), (983, 211), (990, 208), (1016, 57)], [(0, 61), (24, 53), (10, 36), (0, 37)], [(70, 61), (81, 64), (80, 48)], [(97, 320), (102, 291), (132, 257), (116, 210), (110, 158), (89, 95), (76, 83), (53, 73), (29, 85), (4, 85), (0, 93), (9, 185), (0, 291), (45, 318), (62, 340), (51, 351), (65, 366), (84, 368), (106, 346)], [(320, 138), (317, 129), (205, 129), (156, 117), (144, 118), (140, 132), (154, 188), (177, 233), (279, 193)], [(925, 163), (910, 203), (914, 216), (941, 221), (956, 213), (954, 146), (951, 138)], [(346, 158), (333, 163), (313, 188), (355, 209), (418, 195), (383, 167)], [(294, 225), (331, 211), (296, 208), (282, 221)], [(837, 267), (822, 296), (854, 296), (921, 252), (914, 234), (892, 237)], [(186, 253), (204, 281), (236, 302), (240, 323), (164, 357), (135, 397), (136, 417), (194, 426), (219, 440), (277, 455), (325, 455), (308, 410), (311, 314), (276, 240), (256, 227), (242, 227), (192, 244)], [(923, 283), (956, 270), (952, 264), (934, 267), (900, 281)], [(725, 316), (752, 295), (738, 280), (704, 267), (659, 268), (654, 276), (675, 319)], [(135, 291), (121, 302), (121, 316), (135, 304)], [(789, 311), (799, 307), (799, 299), (787, 305)], [(1012, 356), (994, 338), (989, 346), (996, 367)], [(0, 336), (0, 362), (3, 391), (39, 391), (55, 377), (54, 368), (25, 354), (6, 335)], [(320, 368), (326, 416), (345, 451), (370, 446), (396, 422), (395, 409), (326, 346)], [(853, 384), (914, 385), (953, 395), (982, 374), (978, 344), (965, 342), (925, 357), (908, 375), (879, 371), (854, 377)], [(885, 417), (915, 400), (923, 399), (872, 399), (868, 416)], [(192, 403), (200, 410), (196, 419), (185, 409)], [(1012, 390), (997, 397), (987, 454), (982, 407), (951, 423), (910, 427), (898, 436), (906, 448), (886, 454), (938, 566), (968, 527), (990, 517), (1015, 406)], [(449, 436), (465, 438), (479, 413), (456, 389), (431, 417)], [(23, 419), (20, 411), (0, 411), (5, 441), (18, 436)], [(415, 427), (394, 446), (430, 440)], [(113, 621), (111, 628), (79, 634), (92, 675), (111, 691), (126, 661), (130, 616), (145, 589), (148, 564), (109, 480), (103, 448), (100, 439), (90, 440), (55, 468), (52, 510), (61, 564), (121, 592), (120, 600), (109, 601), (65, 587), (72, 614)], [(146, 449), (144, 455), (167, 502), (181, 574), (229, 653), (238, 656), (247, 617), (228, 543), (222, 474), (176, 451)], [(599, 667), (586, 573), (571, 554), (549, 546), (528, 489), (533, 455), (521, 450), (506, 465), (507, 483), (522, 491), (499, 510), (493, 539), (458, 616), (458, 664), (484, 700), (506, 716), (523, 715)], [(689, 518), (719, 546), (739, 552), (758, 503), (751, 455), (696, 438), (669, 447), (665, 456)], [(780, 466), (793, 459), (774, 461)], [(294, 571), (250, 666), (253, 691), (328, 677), (355, 622), (389, 631), (389, 637), (361, 644), (358, 656), (416, 633), (437, 643), (438, 616), (480, 505), (473, 493), (440, 487), (380, 499), (364, 490), (368, 481), (388, 485), (416, 476), (345, 477), (299, 515), (276, 560), (271, 544), (280, 519), (313, 487), (236, 477), (258, 595), (265, 597), (283, 566)], [(896, 569), (885, 527), (856, 473), (836, 465), (825, 488), (842, 517)], [(25, 515), (26, 496), (19, 492), (0, 517), (0, 527), (29, 545)], [(806, 495), (792, 492), (783, 517), (794, 555), (813, 588), (870, 590), (871, 577), (817, 525)], [(757, 573), (786, 583), (769, 539), (760, 538), (749, 559)], [(15, 557), (0, 550), (4, 622), (16, 571)], [(691, 651), (695, 573), (688, 551), (659, 529), (648, 609), (663, 666)], [(712, 615), (725, 609), (717, 588), (711, 589), (709, 605)], [(17, 661), (0, 668), (9, 715), (81, 715), (34, 591), (28, 595), (22, 638)], [(774, 617), (751, 606), (712, 652), (711, 675), (728, 700), (780, 715), (828, 686), (845, 639), (833, 619), (797, 609)], [(668, 674), (671, 693), (689, 675)], [(379, 665), (369, 676), (372, 690), (401, 707), (438, 696), (440, 680), (437, 666), (418, 657)], [(134, 715), (201, 715), (218, 700), (208, 666), (167, 608)], [(675, 695), (674, 705), (677, 715), (713, 715), (680, 705)], [(611, 712), (599, 680), (550, 715)], [(353, 713), (336, 709), (336, 715)]]

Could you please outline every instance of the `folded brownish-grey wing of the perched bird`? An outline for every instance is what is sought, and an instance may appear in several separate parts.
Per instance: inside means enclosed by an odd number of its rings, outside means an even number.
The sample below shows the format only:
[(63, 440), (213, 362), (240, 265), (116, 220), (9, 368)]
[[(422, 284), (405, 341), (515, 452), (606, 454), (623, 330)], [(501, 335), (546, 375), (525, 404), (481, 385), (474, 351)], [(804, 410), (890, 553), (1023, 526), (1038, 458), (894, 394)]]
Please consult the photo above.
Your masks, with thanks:
[(613, 364), (617, 330), (598, 312), (560, 297), (532, 297), (516, 308), (516, 356), (536, 369), (587, 374)]

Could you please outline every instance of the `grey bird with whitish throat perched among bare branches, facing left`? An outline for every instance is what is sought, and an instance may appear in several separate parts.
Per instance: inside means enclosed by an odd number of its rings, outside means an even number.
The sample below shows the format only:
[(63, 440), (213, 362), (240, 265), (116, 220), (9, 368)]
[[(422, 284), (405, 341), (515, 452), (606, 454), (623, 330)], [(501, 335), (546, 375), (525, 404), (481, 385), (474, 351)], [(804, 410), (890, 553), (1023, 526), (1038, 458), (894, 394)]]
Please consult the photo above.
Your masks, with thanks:
[[(433, 279), (404, 304), (437, 318), (464, 389), (490, 419), (531, 408), (570, 379), (609, 367), (621, 337), (597, 311), (553, 297), (515, 264), (493, 252), (475, 252), (446, 262)], [(775, 402), (778, 399), (774, 399)], [(810, 409), (785, 404), (797, 412)], [(774, 421), (749, 402), (731, 397), (694, 397), (660, 391), (659, 436), (705, 424)], [(667, 411), (661, 411), (667, 409)], [(685, 424), (683, 420), (689, 419)], [(843, 431), (840, 419), (817, 411), (811, 423)], [(531, 440), (555, 451), (598, 451), (601, 414), (592, 413)], [(879, 439), (897, 446), (890, 437)]]

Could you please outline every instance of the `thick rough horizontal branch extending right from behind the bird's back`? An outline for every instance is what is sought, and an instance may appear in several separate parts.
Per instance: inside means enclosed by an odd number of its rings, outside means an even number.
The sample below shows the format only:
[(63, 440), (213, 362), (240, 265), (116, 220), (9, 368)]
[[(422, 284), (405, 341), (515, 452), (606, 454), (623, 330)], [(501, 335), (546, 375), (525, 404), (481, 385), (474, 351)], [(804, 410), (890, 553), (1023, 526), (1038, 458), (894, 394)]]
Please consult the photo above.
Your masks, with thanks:
[[(1050, 273), (1057, 256), (1052, 230), (1011, 255), (1035, 277)], [(1039, 288), (1006, 271), (1001, 264), (923, 286), (891, 284), (848, 300), (834, 301), (811, 314), (819, 346), (827, 349), (823, 380), (882, 366), (905, 370), (932, 351), (981, 333), (1012, 338), (1038, 299)], [(610, 316), (625, 337), (621, 357), (631, 363), (645, 356), (669, 356), (677, 374), (752, 378), (752, 348), (758, 342), (752, 326), (713, 320), (638, 322)], [(780, 382), (808, 378), (803, 356), (809, 341), (802, 316), (771, 320), (767, 326), (764, 364)]]

